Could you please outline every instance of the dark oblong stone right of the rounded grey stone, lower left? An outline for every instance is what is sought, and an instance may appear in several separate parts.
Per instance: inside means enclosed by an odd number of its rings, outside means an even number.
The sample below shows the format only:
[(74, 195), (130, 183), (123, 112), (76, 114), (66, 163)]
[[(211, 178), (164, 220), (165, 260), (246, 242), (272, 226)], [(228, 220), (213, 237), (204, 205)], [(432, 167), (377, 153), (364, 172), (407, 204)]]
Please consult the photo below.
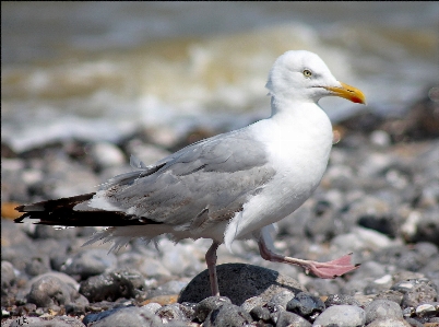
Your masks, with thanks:
[(135, 270), (116, 270), (81, 282), (80, 293), (91, 302), (135, 297), (144, 289), (144, 278)]

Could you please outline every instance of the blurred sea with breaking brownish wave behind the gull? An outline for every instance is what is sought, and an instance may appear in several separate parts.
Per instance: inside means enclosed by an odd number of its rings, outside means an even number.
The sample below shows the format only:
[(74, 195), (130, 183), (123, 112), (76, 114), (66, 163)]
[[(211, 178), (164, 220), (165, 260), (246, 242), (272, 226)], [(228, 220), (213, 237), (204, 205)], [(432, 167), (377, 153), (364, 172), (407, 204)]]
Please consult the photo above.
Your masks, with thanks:
[(2, 143), (229, 130), (270, 114), (286, 50), (317, 52), (368, 106), (401, 115), (438, 84), (438, 2), (2, 2)]

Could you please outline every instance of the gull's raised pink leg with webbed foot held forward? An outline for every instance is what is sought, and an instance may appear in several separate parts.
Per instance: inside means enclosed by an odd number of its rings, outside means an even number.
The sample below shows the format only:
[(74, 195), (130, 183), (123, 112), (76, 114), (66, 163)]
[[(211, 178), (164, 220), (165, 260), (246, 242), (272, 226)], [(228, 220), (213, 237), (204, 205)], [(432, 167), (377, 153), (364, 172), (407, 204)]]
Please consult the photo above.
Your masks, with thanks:
[(359, 265), (353, 266), (351, 264), (352, 254), (345, 255), (332, 261), (318, 262), (311, 260), (296, 259), (275, 254), (266, 247), (263, 237), (259, 238), (258, 245), (261, 257), (264, 258), (265, 260), (297, 265), (305, 268), (306, 273), (309, 273), (311, 271), (313, 275), (320, 278), (335, 278), (337, 276), (342, 276), (343, 273), (355, 270), (359, 267)]

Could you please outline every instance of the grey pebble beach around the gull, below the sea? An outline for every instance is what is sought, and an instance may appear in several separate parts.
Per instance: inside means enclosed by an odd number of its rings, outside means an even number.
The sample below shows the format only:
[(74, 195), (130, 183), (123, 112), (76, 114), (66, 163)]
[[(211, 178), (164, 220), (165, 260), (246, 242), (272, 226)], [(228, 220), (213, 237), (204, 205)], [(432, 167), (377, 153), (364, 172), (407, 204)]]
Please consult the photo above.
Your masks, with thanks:
[(222, 130), (193, 129), (167, 148), (137, 130), (118, 143), (78, 140), (22, 153), (2, 143), (1, 326), (438, 326), (439, 96), (429, 87), (400, 117), (365, 112), (334, 126), (316, 194), (278, 223), (276, 248), (361, 266), (334, 280), (264, 261), (257, 244), (218, 249), (221, 297), (210, 296), (211, 241), (82, 247), (94, 227), (14, 224), (20, 203), (93, 190)]

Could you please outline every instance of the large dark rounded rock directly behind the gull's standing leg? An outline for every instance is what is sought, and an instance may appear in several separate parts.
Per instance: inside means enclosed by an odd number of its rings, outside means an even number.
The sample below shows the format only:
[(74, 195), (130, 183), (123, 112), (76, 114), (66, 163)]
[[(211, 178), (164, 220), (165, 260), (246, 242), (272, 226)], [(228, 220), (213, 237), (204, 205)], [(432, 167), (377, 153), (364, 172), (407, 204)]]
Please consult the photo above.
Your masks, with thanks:
[[(217, 266), (216, 270), (221, 294), (236, 305), (241, 305), (247, 299), (256, 295), (269, 301), (284, 290), (294, 293), (305, 290), (296, 280), (258, 266), (225, 264)], [(200, 302), (210, 295), (209, 272), (204, 270), (181, 291), (178, 302)]]

